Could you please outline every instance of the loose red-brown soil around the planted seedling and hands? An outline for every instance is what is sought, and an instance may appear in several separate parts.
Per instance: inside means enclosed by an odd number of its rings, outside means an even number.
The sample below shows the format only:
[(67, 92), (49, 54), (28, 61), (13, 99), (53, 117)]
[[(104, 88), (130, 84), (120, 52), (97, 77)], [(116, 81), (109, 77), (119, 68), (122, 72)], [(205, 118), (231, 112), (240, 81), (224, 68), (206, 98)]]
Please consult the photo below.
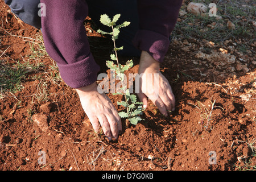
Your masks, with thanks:
[[(35, 38), (41, 33), (19, 22), (8, 10), (1, 1), (0, 55), (3, 51), (5, 54), (0, 60), (8, 59), (9, 63), (28, 60), (31, 49), (30, 39), (26, 37)], [(109, 52), (100, 52), (96, 46), (108, 41), (95, 36), (89, 27), (88, 36), (92, 45), (94, 43), (94, 57), (105, 72), (104, 60), (109, 59)], [(196, 40), (188, 42), (196, 45), (193, 51), (184, 51), (179, 44), (171, 43), (162, 64), (162, 73), (176, 96), (176, 110), (164, 117), (150, 104), (142, 115), (144, 121), (125, 129), (111, 142), (104, 134), (94, 133), (77, 93), (64, 82), (56, 84), (44, 77), (48, 100), (35, 99), (42, 84), (40, 79), (31, 77), (45, 76), (53, 64), (47, 56), (39, 59), (45, 64), (42, 70), (29, 73), (20, 92), (7, 94), (0, 100), (0, 142), (16, 144), (0, 148), (0, 170), (233, 171), (248, 163), (255, 166), (253, 148), (247, 144), (256, 137), (256, 70), (254, 64), (249, 64), (253, 60), (248, 58), (249, 72), (231, 72), (226, 65), (220, 67), (208, 60), (195, 64), (193, 60), (200, 44)], [(135, 67), (130, 73), (138, 68), (138, 58), (133, 60)], [(249, 100), (240, 97), (246, 94), (250, 94)], [(116, 102), (122, 98), (108, 96), (118, 108)], [(21, 107), (18, 107), (16, 103), (20, 100)], [(203, 116), (210, 114), (214, 101), (208, 121)], [(29, 109), (33, 114), (41, 114), (45, 122), (41, 123), (42, 127), (33, 122)], [(46, 152), (46, 164), (38, 163), (39, 151)], [(210, 151), (216, 155), (216, 164), (209, 163)], [(148, 159), (149, 155), (154, 158)]]

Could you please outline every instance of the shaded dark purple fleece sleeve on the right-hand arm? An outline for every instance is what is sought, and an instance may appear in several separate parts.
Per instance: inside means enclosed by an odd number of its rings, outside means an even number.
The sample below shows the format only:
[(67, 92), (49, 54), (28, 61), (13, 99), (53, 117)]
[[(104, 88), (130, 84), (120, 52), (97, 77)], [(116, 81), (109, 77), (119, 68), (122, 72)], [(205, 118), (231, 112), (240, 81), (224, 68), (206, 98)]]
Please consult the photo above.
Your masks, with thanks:
[(162, 62), (170, 44), (170, 34), (182, 0), (138, 0), (139, 31), (134, 46)]

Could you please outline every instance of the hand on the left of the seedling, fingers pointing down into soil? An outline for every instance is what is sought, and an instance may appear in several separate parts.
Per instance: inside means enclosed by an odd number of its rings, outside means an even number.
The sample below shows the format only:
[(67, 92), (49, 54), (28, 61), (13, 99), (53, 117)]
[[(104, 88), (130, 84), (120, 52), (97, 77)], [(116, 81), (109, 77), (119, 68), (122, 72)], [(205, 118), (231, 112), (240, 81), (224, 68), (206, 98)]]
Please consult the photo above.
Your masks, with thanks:
[(109, 140), (112, 140), (112, 138), (117, 139), (118, 134), (122, 131), (122, 123), (109, 97), (105, 93), (98, 93), (96, 82), (76, 89), (76, 91), (94, 131), (98, 132), (101, 125), (104, 134)]

